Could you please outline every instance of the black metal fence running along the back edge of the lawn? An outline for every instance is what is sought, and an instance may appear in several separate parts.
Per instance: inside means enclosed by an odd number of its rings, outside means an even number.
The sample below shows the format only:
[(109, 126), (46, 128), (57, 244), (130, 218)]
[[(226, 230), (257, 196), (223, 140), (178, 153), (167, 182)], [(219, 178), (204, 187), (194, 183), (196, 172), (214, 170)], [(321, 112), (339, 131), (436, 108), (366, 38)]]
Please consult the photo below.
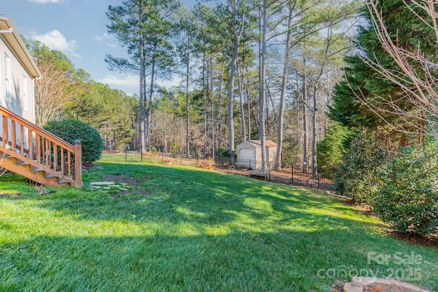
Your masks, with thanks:
[[(215, 157), (214, 161), (204, 157), (185, 157), (185, 154), (171, 155), (164, 152), (143, 152), (140, 150), (125, 149), (123, 152), (105, 151), (101, 161), (116, 161), (127, 163), (167, 163), (184, 165), (202, 165), (211, 163), (214, 168), (232, 174), (248, 176), (250, 170), (261, 168), (261, 161), (249, 159), (233, 159), (231, 157)], [(207, 163), (208, 164), (208, 163)], [(278, 165), (266, 163), (265, 169), (269, 170), (268, 181), (311, 187), (315, 189), (333, 190), (332, 175), (322, 176), (318, 170), (312, 171), (307, 165)], [(264, 179), (264, 178), (263, 178)]]

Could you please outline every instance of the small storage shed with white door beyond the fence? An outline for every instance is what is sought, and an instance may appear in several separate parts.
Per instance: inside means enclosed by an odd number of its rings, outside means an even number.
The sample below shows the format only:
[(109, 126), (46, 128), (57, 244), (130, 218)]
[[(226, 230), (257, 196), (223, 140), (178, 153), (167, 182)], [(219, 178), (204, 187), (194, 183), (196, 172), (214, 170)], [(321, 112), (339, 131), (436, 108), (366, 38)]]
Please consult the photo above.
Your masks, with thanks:
[[(276, 143), (266, 140), (266, 157), (269, 163), (274, 163)], [(242, 168), (261, 168), (261, 142), (248, 140), (237, 145), (237, 166)]]

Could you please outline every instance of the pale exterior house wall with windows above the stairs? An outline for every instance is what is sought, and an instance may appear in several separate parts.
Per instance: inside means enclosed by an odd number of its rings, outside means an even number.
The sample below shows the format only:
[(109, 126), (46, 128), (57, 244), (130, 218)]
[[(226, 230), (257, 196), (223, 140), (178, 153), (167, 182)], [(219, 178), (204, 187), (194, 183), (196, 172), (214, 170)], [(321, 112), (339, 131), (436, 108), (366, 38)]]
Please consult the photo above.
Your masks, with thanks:
[(0, 105), (35, 123), (34, 95), (34, 78), (0, 34)]

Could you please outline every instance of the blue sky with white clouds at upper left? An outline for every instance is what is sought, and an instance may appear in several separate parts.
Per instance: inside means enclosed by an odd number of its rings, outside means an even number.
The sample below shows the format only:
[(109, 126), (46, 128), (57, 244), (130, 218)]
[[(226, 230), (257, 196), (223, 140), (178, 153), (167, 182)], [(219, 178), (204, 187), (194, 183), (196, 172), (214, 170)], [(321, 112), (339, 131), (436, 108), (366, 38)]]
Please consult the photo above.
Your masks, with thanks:
[[(14, 0), (2, 1), (0, 14), (11, 19), (19, 34), (40, 40), (50, 49), (62, 51), (75, 64), (90, 73), (97, 82), (138, 94), (138, 77), (107, 69), (107, 53), (127, 57), (126, 49), (107, 33), (109, 5), (122, 0)], [(195, 0), (181, 0), (188, 8)], [(162, 85), (176, 84), (175, 80)]]

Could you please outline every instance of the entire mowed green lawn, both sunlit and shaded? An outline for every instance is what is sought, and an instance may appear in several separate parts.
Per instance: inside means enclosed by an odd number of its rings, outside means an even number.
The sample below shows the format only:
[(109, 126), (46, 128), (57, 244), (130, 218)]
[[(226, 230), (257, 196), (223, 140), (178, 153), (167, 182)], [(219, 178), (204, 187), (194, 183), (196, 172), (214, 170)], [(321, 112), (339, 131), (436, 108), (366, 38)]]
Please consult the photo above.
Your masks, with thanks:
[(438, 250), (323, 191), (184, 166), (99, 163), (50, 189), (0, 177), (0, 291), (329, 291), (351, 276), (438, 290)]

